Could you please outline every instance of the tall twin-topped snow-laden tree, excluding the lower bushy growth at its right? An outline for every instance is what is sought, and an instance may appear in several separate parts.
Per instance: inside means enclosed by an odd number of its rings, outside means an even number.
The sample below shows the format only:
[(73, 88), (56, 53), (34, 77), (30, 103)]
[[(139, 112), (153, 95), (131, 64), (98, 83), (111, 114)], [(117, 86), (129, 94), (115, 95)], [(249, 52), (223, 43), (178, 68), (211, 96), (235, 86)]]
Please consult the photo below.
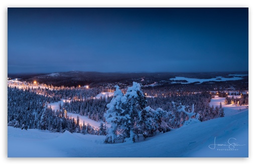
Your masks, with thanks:
[(123, 142), (127, 137), (135, 138), (141, 133), (141, 112), (146, 107), (146, 97), (141, 85), (133, 82), (133, 86), (127, 88), (125, 95), (115, 86), (114, 96), (107, 104), (108, 110), (104, 114), (106, 121), (111, 124), (107, 129), (105, 142)]

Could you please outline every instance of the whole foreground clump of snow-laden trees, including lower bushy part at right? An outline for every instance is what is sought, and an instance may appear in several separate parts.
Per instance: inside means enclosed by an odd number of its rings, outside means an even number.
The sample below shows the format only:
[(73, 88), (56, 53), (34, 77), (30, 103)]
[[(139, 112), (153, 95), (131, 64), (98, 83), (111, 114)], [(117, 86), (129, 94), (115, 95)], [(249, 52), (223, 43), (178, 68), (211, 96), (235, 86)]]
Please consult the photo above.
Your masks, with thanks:
[(123, 142), (125, 138), (152, 136), (157, 130), (168, 131), (169, 126), (162, 120), (167, 111), (146, 107), (147, 100), (141, 84), (133, 82), (125, 94), (115, 86), (114, 96), (107, 104), (105, 118), (111, 126), (107, 129), (105, 142)]

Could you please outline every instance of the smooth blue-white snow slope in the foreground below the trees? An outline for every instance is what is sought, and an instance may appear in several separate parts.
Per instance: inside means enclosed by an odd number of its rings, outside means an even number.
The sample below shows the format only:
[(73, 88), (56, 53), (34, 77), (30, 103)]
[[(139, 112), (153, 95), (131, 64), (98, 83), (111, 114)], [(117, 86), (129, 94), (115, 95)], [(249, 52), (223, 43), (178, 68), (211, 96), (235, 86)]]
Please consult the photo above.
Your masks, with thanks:
[[(228, 146), (211, 149), (209, 145), (215, 137), (216, 144), (236, 138), (235, 142), (242, 145), (235, 146), (238, 150), (233, 151), (217, 150)], [(247, 157), (248, 110), (183, 126), (142, 142), (106, 144), (104, 139), (100, 135), (50, 133), (8, 126), (8, 157)]]

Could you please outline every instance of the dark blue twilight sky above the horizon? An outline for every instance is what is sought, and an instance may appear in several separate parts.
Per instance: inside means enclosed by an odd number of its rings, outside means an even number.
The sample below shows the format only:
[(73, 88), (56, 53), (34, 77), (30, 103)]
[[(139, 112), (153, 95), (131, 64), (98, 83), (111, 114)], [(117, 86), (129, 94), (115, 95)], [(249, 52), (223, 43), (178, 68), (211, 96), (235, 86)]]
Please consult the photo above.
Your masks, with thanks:
[(248, 8), (8, 8), (8, 73), (247, 71)]

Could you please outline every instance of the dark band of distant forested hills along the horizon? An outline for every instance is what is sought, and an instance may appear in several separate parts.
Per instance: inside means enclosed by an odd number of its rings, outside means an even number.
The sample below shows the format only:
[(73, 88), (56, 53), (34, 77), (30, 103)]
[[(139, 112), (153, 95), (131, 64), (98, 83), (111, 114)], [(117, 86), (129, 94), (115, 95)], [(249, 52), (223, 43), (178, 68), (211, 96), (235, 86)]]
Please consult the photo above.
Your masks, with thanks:
[[(175, 76), (189, 78), (212, 78), (216, 76), (229, 77), (228, 74), (248, 74), (248, 72), (96, 72), (96, 71), (66, 71), (53, 73), (26, 73), (8, 74), (8, 77), (39, 83), (52, 84), (54, 86), (78, 86), (89, 85), (90, 87), (101, 86), (106, 83), (123, 83), (131, 85), (133, 81), (142, 84), (152, 84), (167, 81)], [(248, 76), (247, 76), (248, 77)]]

